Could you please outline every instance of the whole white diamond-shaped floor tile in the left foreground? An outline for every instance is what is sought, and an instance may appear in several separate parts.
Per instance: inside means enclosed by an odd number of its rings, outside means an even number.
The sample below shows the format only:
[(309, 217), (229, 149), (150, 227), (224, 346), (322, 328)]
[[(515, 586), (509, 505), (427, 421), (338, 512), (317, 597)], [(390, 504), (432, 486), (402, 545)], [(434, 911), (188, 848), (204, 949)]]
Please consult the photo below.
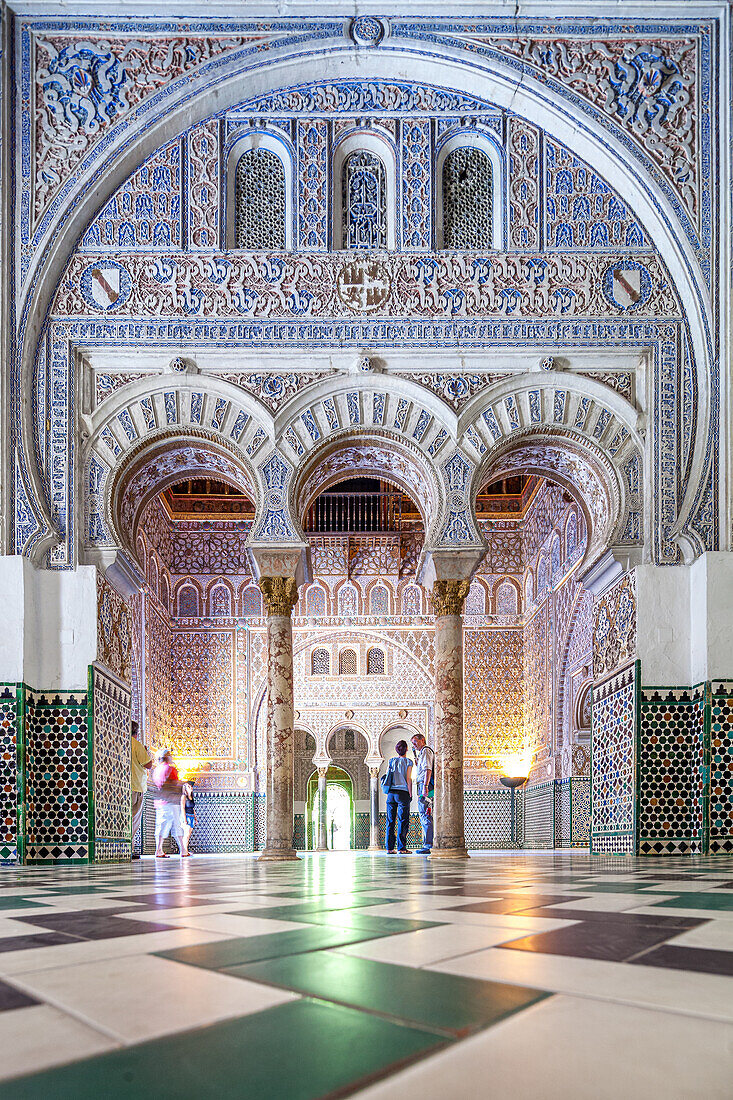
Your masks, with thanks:
[(151, 956), (32, 970), (18, 975), (13, 983), (123, 1043), (297, 1000), (269, 986)]

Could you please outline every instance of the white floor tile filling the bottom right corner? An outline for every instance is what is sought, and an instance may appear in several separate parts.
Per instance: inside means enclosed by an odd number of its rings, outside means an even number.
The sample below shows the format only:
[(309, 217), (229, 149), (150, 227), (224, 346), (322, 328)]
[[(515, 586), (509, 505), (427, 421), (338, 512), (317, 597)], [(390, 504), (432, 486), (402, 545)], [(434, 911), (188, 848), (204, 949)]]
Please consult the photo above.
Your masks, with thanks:
[(730, 1100), (732, 1058), (730, 1024), (554, 997), (358, 1094)]

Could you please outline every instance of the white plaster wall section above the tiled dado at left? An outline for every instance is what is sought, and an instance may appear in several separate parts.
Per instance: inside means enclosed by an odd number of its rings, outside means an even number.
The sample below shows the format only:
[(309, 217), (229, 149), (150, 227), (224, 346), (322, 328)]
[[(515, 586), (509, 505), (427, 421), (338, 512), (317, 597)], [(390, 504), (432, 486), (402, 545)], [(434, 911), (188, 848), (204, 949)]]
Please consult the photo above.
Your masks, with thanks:
[(0, 557), (6, 617), (0, 680), (41, 691), (81, 691), (97, 657), (97, 571), (35, 569), (26, 558)]

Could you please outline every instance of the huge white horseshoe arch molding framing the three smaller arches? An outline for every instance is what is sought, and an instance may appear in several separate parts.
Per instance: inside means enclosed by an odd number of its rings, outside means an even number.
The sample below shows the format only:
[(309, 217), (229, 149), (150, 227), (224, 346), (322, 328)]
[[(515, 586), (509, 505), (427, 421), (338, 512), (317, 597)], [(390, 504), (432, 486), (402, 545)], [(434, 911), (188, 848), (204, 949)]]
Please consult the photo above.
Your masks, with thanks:
[[(329, 35), (329, 30), (332, 35)], [(267, 48), (244, 45), (218, 55), (197, 69), (196, 79), (184, 75), (144, 98), (110, 127), (105, 141), (92, 146), (54, 201), (39, 229), (35, 254), (28, 266), (19, 302), (19, 338), (11, 359), (10, 396), (15, 411), (17, 481), (13, 497), (24, 498), (32, 521), (23, 552), (55, 538), (43, 490), (43, 477), (33, 448), (33, 370), (39, 340), (56, 286), (87, 226), (98, 211), (150, 155), (192, 125), (237, 106), (242, 88), (250, 98), (273, 94), (294, 84), (361, 79), (390, 79), (423, 84), (429, 59), (430, 84), (503, 107), (545, 129), (572, 148), (605, 178), (634, 210), (658, 249), (686, 311), (693, 360), (698, 371), (699, 432), (694, 441), (691, 476), (680, 509), (683, 526), (697, 499), (705, 470), (712, 352), (712, 306), (694, 248), (683, 232), (674, 202), (646, 169), (642, 154), (632, 151), (623, 131), (589, 103), (556, 84), (541, 81), (526, 66), (501, 56), (483, 44), (471, 43), (468, 53), (461, 33), (429, 44), (417, 36), (385, 35), (379, 48), (358, 52), (344, 38), (343, 20), (320, 25), (317, 41), (296, 42), (273, 33)], [(417, 26), (419, 30), (419, 26)], [(463, 24), (462, 36), (469, 36)], [(282, 44), (281, 44), (282, 43)], [(349, 68), (351, 63), (351, 68)], [(368, 63), (368, 68), (365, 67)], [(20, 125), (20, 120), (19, 120)], [(21, 135), (18, 134), (18, 147)], [(724, 305), (724, 304), (723, 304)], [(720, 343), (727, 339), (726, 311), (721, 310)], [(11, 484), (11, 480), (7, 480)]]

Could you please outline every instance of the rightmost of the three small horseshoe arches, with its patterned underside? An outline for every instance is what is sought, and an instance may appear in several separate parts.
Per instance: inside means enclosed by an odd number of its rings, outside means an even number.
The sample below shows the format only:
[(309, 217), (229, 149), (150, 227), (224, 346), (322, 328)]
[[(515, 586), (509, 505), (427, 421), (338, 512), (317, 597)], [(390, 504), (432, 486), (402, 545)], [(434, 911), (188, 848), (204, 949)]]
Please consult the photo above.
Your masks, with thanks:
[[(470, 442), (470, 450), (481, 461), (472, 498), (475, 501), (490, 476), (525, 469), (518, 458), (518, 465), (511, 458), (515, 446), (536, 448), (546, 438), (556, 457), (545, 473), (566, 485), (586, 519), (589, 531), (586, 564), (591, 563), (601, 544), (605, 549), (648, 546), (654, 515), (647, 487), (648, 447), (642, 427), (643, 418), (633, 405), (591, 378), (559, 371), (508, 378), (491, 387), (490, 399), (485, 393), (473, 398), (459, 419), (461, 438)], [(535, 442), (529, 444), (529, 440)], [(560, 451), (566, 444), (568, 461), (564, 472)], [(548, 462), (549, 454), (550, 450)], [(576, 482), (570, 470), (571, 454), (581, 463), (576, 470)], [(581, 473), (582, 463), (586, 474)], [(527, 472), (543, 473), (538, 454), (533, 457), (530, 465), (533, 469), (527, 465)], [(502, 473), (496, 472), (500, 466)], [(593, 497), (601, 512), (592, 506)]]

